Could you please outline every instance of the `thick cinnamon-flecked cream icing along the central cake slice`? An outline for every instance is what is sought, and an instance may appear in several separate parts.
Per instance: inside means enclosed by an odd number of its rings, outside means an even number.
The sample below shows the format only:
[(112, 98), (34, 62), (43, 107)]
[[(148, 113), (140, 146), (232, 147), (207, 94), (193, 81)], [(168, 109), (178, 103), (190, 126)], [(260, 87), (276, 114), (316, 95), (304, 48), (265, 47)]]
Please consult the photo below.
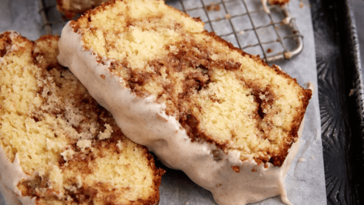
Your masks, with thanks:
[[(110, 73), (112, 60), (97, 62), (96, 55), (84, 49), (81, 34), (74, 32), (70, 23), (62, 30), (58, 61), (112, 113), (128, 138), (147, 146), (166, 166), (184, 171), (195, 183), (210, 190), (219, 205), (244, 205), (277, 195), (290, 204), (284, 177), (298, 151), (303, 121), (299, 138), (281, 167), (271, 163), (257, 165), (253, 159), (241, 161), (238, 152), (224, 153), (212, 143), (191, 142), (175, 117), (166, 115), (164, 104), (156, 103), (153, 96), (137, 97), (126, 88), (122, 79)], [(213, 155), (216, 150), (218, 160)]]

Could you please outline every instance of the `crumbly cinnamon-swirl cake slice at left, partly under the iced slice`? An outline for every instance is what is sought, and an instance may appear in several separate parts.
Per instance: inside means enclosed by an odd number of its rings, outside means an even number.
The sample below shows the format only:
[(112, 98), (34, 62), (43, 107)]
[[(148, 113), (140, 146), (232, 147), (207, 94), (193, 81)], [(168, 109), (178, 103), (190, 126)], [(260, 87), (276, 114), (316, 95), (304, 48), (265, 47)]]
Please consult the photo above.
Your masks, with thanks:
[(0, 173), (8, 205), (158, 204), (146, 147), (56, 60), (58, 37), (0, 34)]

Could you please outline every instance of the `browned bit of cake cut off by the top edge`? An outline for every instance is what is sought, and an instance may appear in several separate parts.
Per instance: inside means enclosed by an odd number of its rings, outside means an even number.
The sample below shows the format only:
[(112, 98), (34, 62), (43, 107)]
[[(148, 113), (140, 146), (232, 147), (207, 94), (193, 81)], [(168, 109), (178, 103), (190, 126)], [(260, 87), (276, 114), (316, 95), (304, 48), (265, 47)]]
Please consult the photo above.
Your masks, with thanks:
[(57, 0), (57, 9), (72, 19), (77, 14), (82, 14), (106, 1), (108, 0)]

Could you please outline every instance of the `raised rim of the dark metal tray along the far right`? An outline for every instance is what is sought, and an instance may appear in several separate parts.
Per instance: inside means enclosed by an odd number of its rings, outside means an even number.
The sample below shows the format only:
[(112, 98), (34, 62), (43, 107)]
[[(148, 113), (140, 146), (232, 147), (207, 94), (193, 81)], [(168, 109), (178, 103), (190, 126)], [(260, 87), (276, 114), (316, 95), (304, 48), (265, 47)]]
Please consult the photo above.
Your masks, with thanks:
[[(347, 6), (347, 24), (345, 31), (347, 31), (347, 38), (344, 45), (350, 45), (348, 47), (344, 46), (346, 52), (350, 53), (351, 58), (348, 61), (347, 66), (352, 67), (352, 75), (347, 76), (347, 84), (352, 84), (352, 88), (349, 88), (349, 123), (351, 125), (351, 165), (352, 165), (352, 188), (353, 188), (353, 201), (351, 204), (363, 204), (364, 203), (364, 77), (363, 69), (360, 60), (360, 47), (358, 34), (356, 30), (356, 23), (354, 12), (352, 8), (352, 1), (344, 1)], [(360, 25), (359, 25), (360, 26)], [(350, 44), (351, 43), (351, 44)], [(345, 61), (344, 61), (345, 62)], [(344, 68), (345, 69), (345, 68)], [(352, 95), (352, 96), (351, 96)], [(351, 107), (350, 105), (355, 105), (356, 107)], [(356, 108), (356, 109), (355, 109)], [(357, 197), (357, 198), (356, 198)]]

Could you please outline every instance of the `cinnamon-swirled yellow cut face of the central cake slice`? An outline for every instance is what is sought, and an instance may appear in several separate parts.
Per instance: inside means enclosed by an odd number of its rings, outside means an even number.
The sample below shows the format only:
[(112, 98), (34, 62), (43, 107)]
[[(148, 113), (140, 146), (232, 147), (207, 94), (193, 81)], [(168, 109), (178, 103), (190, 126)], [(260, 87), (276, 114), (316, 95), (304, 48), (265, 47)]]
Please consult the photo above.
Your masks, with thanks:
[(200, 19), (164, 1), (116, 0), (71, 26), (85, 50), (111, 62), (137, 96), (165, 104), (193, 141), (281, 166), (297, 140), (311, 91), (207, 32)]

